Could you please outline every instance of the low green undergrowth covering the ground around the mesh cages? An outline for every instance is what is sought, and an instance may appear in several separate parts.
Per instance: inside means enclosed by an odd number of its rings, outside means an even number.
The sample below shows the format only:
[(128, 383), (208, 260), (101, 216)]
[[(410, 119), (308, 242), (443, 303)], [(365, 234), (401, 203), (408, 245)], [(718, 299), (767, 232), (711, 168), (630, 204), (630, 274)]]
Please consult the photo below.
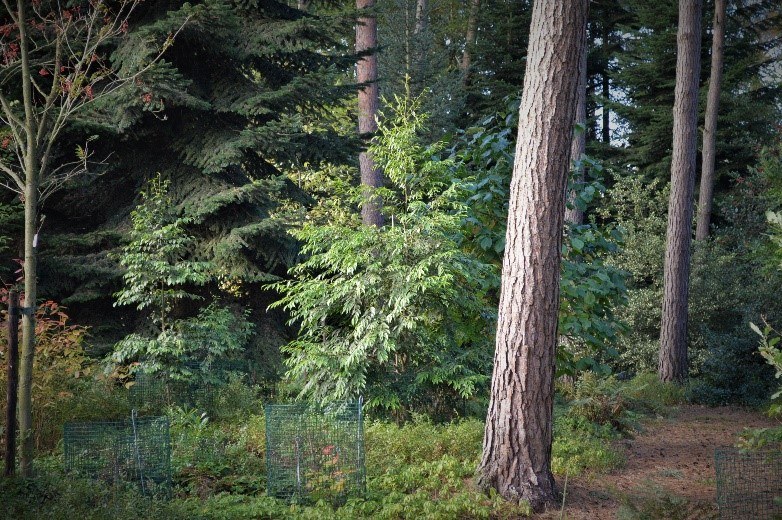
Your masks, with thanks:
[[(365, 445), (367, 492), (339, 507), (326, 501), (289, 503), (266, 495), (265, 418), (240, 382), (216, 399), (222, 415), (175, 407), (171, 420), (173, 492), (148, 499), (138, 489), (106, 486), (64, 474), (59, 434), (38, 461), (32, 480), (0, 480), (0, 517), (37, 518), (520, 518), (525, 503), (485, 494), (473, 483), (483, 422), (465, 417), (448, 423), (415, 415), (404, 423), (370, 418)], [(562, 385), (555, 405), (553, 467), (558, 479), (585, 471), (598, 475), (620, 467), (614, 441), (632, 435), (638, 420), (681, 402), (682, 391), (654, 375), (630, 381), (587, 374)], [(105, 397), (113, 402), (113, 395)]]

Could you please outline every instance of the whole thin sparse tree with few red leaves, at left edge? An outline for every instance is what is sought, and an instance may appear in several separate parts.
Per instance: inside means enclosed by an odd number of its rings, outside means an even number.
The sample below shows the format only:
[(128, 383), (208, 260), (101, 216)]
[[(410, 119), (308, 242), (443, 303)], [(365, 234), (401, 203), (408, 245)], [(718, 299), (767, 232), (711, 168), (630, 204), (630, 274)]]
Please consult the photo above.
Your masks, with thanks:
[(0, 5), (0, 125), (10, 139), (0, 154), (0, 185), (24, 203), (24, 307), (19, 363), (21, 472), (32, 474), (32, 380), (35, 356), (38, 234), (43, 202), (90, 166), (89, 143), (73, 160), (53, 164), (68, 124), (85, 108), (138, 80), (173, 41), (174, 34), (139, 55), (126, 70), (105, 56), (112, 41), (126, 36), (140, 0), (2, 0)]

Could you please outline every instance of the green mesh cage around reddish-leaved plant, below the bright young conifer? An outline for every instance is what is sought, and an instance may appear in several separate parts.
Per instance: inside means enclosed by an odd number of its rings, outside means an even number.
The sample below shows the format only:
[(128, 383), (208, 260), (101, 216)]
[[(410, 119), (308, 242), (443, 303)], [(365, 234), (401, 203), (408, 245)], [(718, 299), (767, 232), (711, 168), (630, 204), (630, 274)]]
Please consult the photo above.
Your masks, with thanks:
[(340, 504), (366, 489), (362, 403), (266, 405), (270, 496)]

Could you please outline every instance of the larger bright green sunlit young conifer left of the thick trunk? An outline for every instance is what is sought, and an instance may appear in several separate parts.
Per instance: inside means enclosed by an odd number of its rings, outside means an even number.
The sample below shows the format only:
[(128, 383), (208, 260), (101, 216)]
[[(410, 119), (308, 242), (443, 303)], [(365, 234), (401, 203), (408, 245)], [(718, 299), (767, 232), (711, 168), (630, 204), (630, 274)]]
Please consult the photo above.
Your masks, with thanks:
[(486, 387), (497, 270), (463, 250), (461, 186), (440, 147), (420, 142), (417, 106), (398, 100), (370, 150), (387, 179), (388, 224), (363, 226), (348, 206), (294, 232), (305, 259), (274, 285), (273, 307), (299, 329), (284, 350), (300, 397), (364, 393), (369, 409), (447, 413)]

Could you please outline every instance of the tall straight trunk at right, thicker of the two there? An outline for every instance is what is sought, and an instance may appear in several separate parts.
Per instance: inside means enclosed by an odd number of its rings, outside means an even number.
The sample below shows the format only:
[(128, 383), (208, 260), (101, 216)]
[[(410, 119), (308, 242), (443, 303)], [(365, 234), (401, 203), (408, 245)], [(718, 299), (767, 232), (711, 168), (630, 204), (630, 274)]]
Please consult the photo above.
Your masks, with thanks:
[(701, 8), (701, 0), (679, 2), (671, 198), (668, 205), (660, 327), (659, 375), (663, 381), (683, 381), (687, 377), (687, 301), (698, 152)]

